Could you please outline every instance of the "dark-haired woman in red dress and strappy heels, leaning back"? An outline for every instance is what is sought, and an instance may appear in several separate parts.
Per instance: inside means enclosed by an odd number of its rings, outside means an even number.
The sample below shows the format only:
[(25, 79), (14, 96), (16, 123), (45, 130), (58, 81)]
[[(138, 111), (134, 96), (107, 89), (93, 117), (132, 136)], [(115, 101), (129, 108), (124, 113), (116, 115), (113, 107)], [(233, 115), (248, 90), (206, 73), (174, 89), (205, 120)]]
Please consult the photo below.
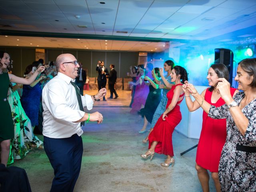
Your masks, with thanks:
[(188, 80), (187, 71), (181, 66), (175, 66), (170, 76), (172, 79), (171, 82), (174, 82), (174, 86), (166, 94), (168, 98), (166, 110), (160, 116), (153, 131), (148, 136), (148, 151), (140, 155), (144, 159), (150, 156), (150, 160), (152, 160), (155, 152), (165, 154), (167, 158), (164, 163), (161, 163), (161, 166), (164, 167), (168, 167), (170, 164), (174, 166), (172, 133), (182, 118), (180, 113), (180, 103), (184, 98), (182, 84)]

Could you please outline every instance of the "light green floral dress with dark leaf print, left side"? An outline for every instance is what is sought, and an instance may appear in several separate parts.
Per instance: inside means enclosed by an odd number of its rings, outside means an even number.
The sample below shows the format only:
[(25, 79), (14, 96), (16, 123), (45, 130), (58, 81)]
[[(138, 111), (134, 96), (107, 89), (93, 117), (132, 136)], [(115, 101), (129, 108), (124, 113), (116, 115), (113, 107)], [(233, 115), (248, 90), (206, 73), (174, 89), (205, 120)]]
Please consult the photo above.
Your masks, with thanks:
[(12, 86), (8, 90), (8, 102), (12, 111), (14, 121), (14, 138), (11, 139), (10, 158), (8, 164), (14, 159), (22, 159), (32, 149), (31, 143), (39, 147), (43, 142), (33, 134), (30, 119), (26, 116), (20, 103), (20, 96), (17, 91), (12, 91)]

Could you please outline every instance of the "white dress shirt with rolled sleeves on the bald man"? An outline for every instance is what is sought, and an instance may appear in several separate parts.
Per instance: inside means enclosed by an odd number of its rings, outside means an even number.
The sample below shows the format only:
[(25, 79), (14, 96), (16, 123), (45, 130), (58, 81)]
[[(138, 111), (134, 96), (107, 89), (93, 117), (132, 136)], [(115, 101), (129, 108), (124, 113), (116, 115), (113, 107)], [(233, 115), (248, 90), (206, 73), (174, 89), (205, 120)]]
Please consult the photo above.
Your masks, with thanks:
[[(76, 90), (70, 83), (74, 80), (63, 73), (50, 80), (42, 92), (43, 135), (50, 138), (69, 138), (74, 134), (82, 135), (80, 120), (84, 113), (79, 109)], [(81, 96), (83, 106), (92, 109), (90, 95)]]

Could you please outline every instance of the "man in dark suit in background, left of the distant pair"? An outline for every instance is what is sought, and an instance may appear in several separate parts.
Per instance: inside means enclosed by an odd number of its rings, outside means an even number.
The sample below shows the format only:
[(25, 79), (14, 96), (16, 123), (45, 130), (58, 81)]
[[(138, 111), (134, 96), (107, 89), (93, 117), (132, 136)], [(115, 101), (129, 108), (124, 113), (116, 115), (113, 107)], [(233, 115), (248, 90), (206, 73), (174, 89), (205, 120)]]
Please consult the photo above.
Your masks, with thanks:
[[(98, 71), (98, 90), (100, 90), (101, 88), (106, 88), (106, 84), (107, 84), (107, 78), (106, 76), (108, 76), (108, 69), (105, 68), (104, 66), (104, 61), (98, 61), (97, 67), (96, 67), (96, 71)], [(105, 97), (103, 97), (103, 100), (106, 101)]]

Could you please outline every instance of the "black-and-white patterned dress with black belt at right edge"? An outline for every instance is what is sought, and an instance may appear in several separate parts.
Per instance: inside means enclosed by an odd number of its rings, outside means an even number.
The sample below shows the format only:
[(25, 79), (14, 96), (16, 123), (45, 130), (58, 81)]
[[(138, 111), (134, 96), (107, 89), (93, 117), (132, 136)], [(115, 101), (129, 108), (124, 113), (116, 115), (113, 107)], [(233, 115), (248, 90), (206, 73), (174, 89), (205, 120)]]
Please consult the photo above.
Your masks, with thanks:
[[(243, 92), (234, 96), (238, 104), (242, 98)], [(256, 99), (246, 105), (242, 112), (249, 120), (244, 136), (236, 127), (226, 104), (218, 108), (211, 106), (208, 114), (211, 118), (226, 118), (227, 121), (227, 138), (219, 164), (219, 180), (223, 192), (256, 192), (256, 153), (236, 150), (237, 144), (256, 147)]]

